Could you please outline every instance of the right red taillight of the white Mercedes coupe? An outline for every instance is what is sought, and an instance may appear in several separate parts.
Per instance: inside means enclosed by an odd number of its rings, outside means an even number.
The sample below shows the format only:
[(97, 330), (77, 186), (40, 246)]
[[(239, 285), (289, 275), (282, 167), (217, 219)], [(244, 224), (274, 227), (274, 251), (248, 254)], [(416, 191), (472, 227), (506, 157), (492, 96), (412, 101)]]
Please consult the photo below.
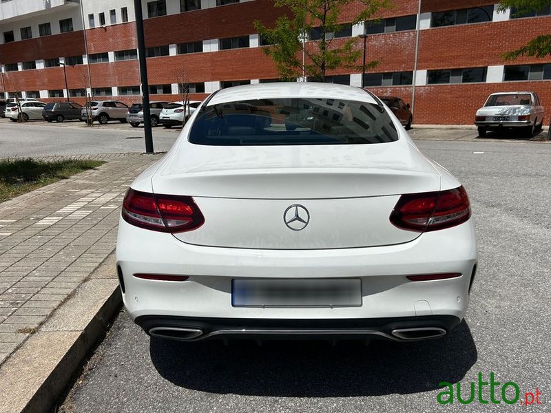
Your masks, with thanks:
[(419, 232), (450, 228), (469, 218), (470, 203), (464, 187), (402, 195), (390, 216), (398, 228)]

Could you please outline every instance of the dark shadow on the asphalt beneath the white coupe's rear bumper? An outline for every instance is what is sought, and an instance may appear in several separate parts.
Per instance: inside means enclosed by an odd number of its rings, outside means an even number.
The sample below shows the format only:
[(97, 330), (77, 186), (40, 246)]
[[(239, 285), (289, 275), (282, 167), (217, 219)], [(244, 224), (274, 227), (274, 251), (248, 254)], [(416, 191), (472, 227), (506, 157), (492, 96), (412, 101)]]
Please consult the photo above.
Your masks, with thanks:
[(477, 361), (465, 321), (442, 339), (394, 343), (253, 341), (183, 343), (151, 338), (159, 374), (183, 388), (218, 394), (344, 397), (408, 394), (455, 383)]

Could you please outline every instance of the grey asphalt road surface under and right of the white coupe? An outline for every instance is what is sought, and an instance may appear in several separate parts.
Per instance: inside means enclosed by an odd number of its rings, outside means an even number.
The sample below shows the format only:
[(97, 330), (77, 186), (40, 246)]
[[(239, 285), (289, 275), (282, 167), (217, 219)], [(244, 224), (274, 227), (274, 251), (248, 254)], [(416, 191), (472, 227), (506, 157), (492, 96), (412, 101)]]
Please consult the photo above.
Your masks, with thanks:
[[(474, 211), (479, 271), (468, 315), (450, 335), (370, 346), (178, 343), (150, 339), (123, 310), (60, 411), (508, 412), (526, 410), (520, 401), (536, 389), (542, 404), (532, 411), (551, 411), (551, 145), (417, 145), (464, 183)], [(439, 382), (459, 381), (466, 398), (490, 372), (501, 383), (496, 399), (511, 381), (517, 403), (437, 402)], [(481, 396), (490, 398), (488, 385)]]

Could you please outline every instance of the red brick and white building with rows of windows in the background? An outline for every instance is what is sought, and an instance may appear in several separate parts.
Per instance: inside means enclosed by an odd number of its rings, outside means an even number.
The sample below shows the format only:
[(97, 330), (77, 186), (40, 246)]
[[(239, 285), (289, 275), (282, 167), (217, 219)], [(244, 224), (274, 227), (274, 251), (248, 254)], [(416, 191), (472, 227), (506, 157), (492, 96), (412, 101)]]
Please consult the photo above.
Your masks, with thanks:
[[(343, 22), (360, 7), (349, 6)], [(253, 27), (284, 13), (272, 0), (142, 0), (142, 11), (152, 100), (180, 100), (185, 87), (200, 99), (278, 77)], [(410, 102), (414, 123), (472, 124), (488, 94), (503, 91), (538, 92), (550, 113), (551, 56), (501, 56), (551, 33), (551, 10), (520, 17), (498, 12), (495, 1), (401, 0), (378, 17), (335, 34), (343, 38), (335, 42), (366, 34), (366, 60), (380, 63), (363, 76), (364, 86)], [(363, 50), (363, 39), (356, 45)], [(132, 103), (141, 94), (137, 59), (132, 0), (0, 2), (0, 98), (82, 103), (90, 94)], [(361, 70), (330, 75), (362, 85)]]

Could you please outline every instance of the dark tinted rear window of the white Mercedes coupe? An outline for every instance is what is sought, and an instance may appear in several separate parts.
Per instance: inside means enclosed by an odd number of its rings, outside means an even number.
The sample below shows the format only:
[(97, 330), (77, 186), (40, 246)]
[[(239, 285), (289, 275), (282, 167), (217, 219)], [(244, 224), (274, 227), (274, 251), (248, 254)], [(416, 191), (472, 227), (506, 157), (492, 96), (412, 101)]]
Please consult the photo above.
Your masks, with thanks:
[(384, 108), (342, 99), (242, 100), (206, 107), (189, 142), (198, 145), (355, 145), (393, 142)]

